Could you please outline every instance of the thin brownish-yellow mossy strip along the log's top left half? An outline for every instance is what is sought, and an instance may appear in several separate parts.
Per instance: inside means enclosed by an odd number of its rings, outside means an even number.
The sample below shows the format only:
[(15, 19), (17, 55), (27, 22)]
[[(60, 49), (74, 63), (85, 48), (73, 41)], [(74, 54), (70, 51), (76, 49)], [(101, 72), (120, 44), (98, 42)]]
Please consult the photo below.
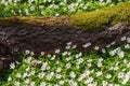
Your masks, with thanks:
[(52, 26), (52, 27), (58, 27), (62, 26), (70, 26), (69, 25), (69, 16), (49, 16), (49, 17), (6, 17), (6, 18), (0, 18), (0, 27), (11, 27), (11, 26), (41, 26), (41, 25), (47, 25), (47, 26)]

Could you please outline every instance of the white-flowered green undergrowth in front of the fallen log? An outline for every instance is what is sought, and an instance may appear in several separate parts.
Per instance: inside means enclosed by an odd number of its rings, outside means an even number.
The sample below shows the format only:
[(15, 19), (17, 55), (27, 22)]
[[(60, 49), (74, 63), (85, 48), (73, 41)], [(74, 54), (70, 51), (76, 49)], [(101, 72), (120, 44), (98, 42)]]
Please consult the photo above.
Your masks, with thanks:
[[(70, 42), (66, 51), (35, 58), (26, 51), (22, 61), (10, 64), (1, 86), (130, 86), (130, 38), (95, 51), (81, 53)], [(84, 49), (91, 46), (83, 44)]]

